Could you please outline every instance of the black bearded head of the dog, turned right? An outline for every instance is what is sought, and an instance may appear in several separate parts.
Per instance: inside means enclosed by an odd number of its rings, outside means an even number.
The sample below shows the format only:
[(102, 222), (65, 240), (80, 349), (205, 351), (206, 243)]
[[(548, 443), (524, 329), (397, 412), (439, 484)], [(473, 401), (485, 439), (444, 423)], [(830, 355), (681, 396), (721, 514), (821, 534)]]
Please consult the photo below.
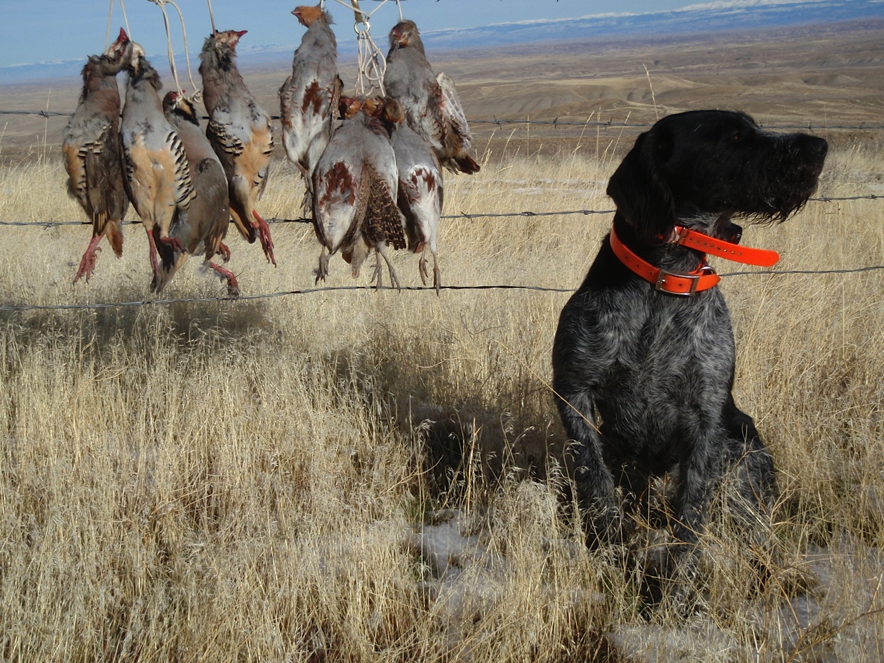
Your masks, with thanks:
[(826, 153), (821, 138), (766, 132), (745, 113), (691, 110), (641, 134), (607, 193), (649, 244), (676, 223), (729, 239), (731, 217), (782, 221), (799, 210)]

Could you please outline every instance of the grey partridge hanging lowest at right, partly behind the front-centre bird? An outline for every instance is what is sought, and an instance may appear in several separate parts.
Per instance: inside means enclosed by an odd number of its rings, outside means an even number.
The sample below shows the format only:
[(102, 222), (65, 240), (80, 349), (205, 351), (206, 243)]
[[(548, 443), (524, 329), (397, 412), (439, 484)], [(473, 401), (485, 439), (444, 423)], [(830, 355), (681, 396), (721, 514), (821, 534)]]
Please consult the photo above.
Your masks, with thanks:
[(436, 260), (436, 238), (443, 202), (442, 168), (427, 141), (407, 124), (403, 123), (392, 132), (390, 142), (399, 170), (397, 204), (406, 221), (408, 250), (421, 254), (417, 266), (423, 285), (426, 286), (427, 249), (430, 249), (433, 256), (433, 287), (438, 293), (442, 286)]

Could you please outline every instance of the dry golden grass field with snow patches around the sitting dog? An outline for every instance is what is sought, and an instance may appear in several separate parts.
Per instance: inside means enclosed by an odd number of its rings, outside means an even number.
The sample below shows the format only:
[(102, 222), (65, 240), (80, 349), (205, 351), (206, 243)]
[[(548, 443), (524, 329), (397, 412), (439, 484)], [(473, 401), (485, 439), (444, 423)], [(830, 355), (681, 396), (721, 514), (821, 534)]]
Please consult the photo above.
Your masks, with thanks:
[[(831, 83), (808, 80), (825, 58), (853, 62), (882, 33), (809, 34), (661, 44), (656, 59), (681, 54), (671, 66), (693, 67), (697, 78), (733, 64), (745, 42), (793, 65), (727, 89), (694, 81), (690, 95), (686, 72), (665, 86), (652, 72), (659, 109), (880, 124), (881, 87), (871, 83), (884, 80), (880, 62), (832, 66)], [(610, 73), (599, 74), (631, 82), (604, 101), (575, 102), (569, 117), (653, 118), (636, 55), (645, 47), (634, 48), (612, 50)], [(601, 63), (604, 53), (590, 50), (570, 62)], [(810, 69), (794, 64), (803, 52)], [(549, 58), (532, 61), (550, 67), (538, 78), (560, 72)], [(613, 71), (618, 62), (623, 72)], [(506, 95), (483, 96), (493, 86), (476, 80), (478, 66), (446, 66), (465, 81), (470, 117), (535, 117), (495, 107)], [(501, 69), (494, 85), (518, 73)], [(585, 72), (587, 86), (593, 76)], [(782, 101), (777, 76), (804, 91)], [(528, 80), (520, 94), (544, 85)], [(623, 95), (629, 86), (643, 96)], [(753, 94), (766, 95), (763, 108)], [(8, 148), (0, 141), (0, 220), (81, 217), (65, 194), (58, 129), (39, 122), (45, 144), (28, 143), (27, 131), (4, 139)], [(606, 179), (635, 131), (568, 131), (488, 133), (484, 170), (447, 179), (446, 212), (609, 209)], [(884, 194), (881, 132), (819, 133), (834, 145), (819, 194)], [(261, 209), (297, 216), (301, 194), (278, 159)], [(443, 222), (443, 282), (574, 288), (610, 220)], [(229, 236), (240, 301), (8, 310), (151, 301), (149, 264), (144, 232), (127, 225), (124, 257), (105, 250), (92, 281), (72, 286), (88, 226), (0, 226), (4, 660), (884, 659), (884, 271), (723, 279), (735, 398), (780, 473), (771, 524), (781, 554), (759, 583), (717, 515), (703, 540), (705, 611), (687, 624), (667, 615), (648, 623), (630, 569), (617, 551), (586, 551), (563, 497), (568, 454), (546, 381), (568, 293), (249, 299), (313, 285), (319, 250), (309, 225), (271, 229), (277, 269), (257, 245)], [(780, 251), (781, 271), (880, 265), (884, 203), (810, 202), (786, 224), (747, 228), (743, 241)], [(415, 256), (400, 252), (394, 263), (403, 286), (419, 285)], [(338, 256), (327, 285), (353, 285)], [(164, 296), (224, 290), (194, 260)]]

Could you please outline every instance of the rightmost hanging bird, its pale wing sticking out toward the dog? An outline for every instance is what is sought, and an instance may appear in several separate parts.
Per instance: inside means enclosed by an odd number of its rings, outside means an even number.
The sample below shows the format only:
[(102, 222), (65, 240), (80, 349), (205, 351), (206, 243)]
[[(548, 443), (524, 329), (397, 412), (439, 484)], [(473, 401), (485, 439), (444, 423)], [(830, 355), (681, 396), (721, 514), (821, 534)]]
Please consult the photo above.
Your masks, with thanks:
[(449, 171), (478, 172), (468, 154), (473, 136), (454, 81), (445, 72), (433, 75), (414, 21), (392, 28), (386, 60), (385, 92), (401, 104), (408, 126), (430, 143)]

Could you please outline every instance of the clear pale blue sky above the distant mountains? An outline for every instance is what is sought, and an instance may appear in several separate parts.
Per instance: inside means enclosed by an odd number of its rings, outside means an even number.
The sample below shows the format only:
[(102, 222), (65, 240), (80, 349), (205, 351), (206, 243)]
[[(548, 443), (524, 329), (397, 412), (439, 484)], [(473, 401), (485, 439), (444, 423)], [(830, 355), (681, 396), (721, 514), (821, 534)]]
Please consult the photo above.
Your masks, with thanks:
[[(297, 4), (318, 0), (213, 0), (212, 10), (219, 30), (248, 30), (243, 47), (297, 44), (304, 28), (289, 12)], [(695, 0), (696, 2), (696, 0)], [(124, 0), (131, 36), (148, 53), (166, 52), (163, 13), (150, 0)], [(177, 0), (184, 13), (189, 49), (199, 51), (210, 33), (206, 0)], [(619, 0), (616, 4), (598, 0), (404, 0), (405, 18), (414, 20), (423, 32), (443, 27), (476, 27), (491, 23), (531, 19), (568, 19), (612, 11), (642, 13), (694, 4), (690, 0)], [(364, 11), (377, 13), (371, 34), (383, 49), (386, 34), (398, 21), (399, 12), (390, 0), (379, 6), (374, 0), (360, 0)], [(3, 16), (3, 46), (0, 67), (55, 60), (85, 59), (104, 49), (110, 0), (0, 0)], [(353, 13), (326, 0), (337, 26), (339, 42), (354, 41)], [(178, 12), (166, 5), (171, 22), (176, 56), (183, 52)], [(119, 0), (115, 0), (111, 39), (123, 26)], [(194, 65), (194, 62), (191, 62)], [(183, 61), (179, 61), (179, 68)]]

